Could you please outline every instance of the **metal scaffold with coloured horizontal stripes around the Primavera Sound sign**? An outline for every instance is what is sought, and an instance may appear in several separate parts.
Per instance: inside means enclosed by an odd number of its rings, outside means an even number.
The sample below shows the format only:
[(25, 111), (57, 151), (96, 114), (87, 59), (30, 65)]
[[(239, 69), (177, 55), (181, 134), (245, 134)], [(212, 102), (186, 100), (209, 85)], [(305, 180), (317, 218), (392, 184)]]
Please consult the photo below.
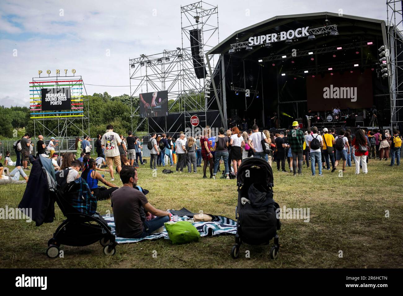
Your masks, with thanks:
[[(70, 87), (71, 110), (42, 112), (41, 89), (44, 87)], [(65, 147), (67, 138), (89, 135), (89, 103), (81, 76), (33, 77), (29, 83), (30, 118), (33, 119), (34, 137), (43, 135), (45, 140), (55, 137), (59, 146)], [(52, 128), (50, 122), (57, 122)], [(69, 128), (74, 126), (79, 134), (69, 135)], [(67, 143), (69, 149), (71, 143)]]

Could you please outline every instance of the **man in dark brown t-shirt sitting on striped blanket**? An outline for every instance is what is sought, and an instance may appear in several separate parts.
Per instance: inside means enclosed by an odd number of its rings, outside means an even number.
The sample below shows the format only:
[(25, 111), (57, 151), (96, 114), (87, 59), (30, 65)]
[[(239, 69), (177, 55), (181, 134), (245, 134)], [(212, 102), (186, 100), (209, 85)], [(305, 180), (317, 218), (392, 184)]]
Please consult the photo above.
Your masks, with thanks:
[[(137, 170), (132, 166), (123, 166), (120, 171), (123, 186), (115, 190), (110, 198), (115, 220), (116, 236), (123, 238), (143, 238), (164, 226), (170, 220), (170, 213), (154, 208), (145, 195), (133, 188), (137, 186)], [(150, 221), (142, 221), (141, 212), (157, 216)]]

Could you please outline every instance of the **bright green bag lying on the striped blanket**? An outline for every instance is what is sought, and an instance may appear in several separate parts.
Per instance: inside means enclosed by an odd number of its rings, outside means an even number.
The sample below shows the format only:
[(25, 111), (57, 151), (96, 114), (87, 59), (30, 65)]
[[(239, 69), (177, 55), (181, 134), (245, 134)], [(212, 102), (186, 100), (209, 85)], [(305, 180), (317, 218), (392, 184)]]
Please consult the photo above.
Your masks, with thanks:
[(200, 238), (197, 229), (188, 221), (178, 221), (174, 224), (165, 223), (165, 229), (172, 244), (197, 242)]

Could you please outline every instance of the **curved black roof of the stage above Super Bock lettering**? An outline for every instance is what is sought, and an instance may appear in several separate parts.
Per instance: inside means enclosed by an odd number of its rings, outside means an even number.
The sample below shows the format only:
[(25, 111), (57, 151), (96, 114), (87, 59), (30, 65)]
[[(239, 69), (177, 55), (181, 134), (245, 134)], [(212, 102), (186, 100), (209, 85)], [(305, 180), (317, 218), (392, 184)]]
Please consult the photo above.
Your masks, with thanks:
[[(298, 25), (306, 25), (309, 23), (311, 28), (322, 27), (326, 16), (331, 24), (337, 25), (339, 31), (339, 39), (350, 39), (351, 35), (364, 35), (369, 36), (382, 36), (382, 26), (385, 25), (385, 21), (378, 19), (369, 19), (366, 17), (357, 17), (352, 15), (343, 14), (339, 16), (334, 12), (315, 12), (305, 14), (290, 14), (281, 15), (267, 19), (255, 25), (246, 27), (244, 29), (234, 32), (227, 37), (224, 41), (220, 42), (217, 46), (214, 46), (207, 54), (225, 54), (231, 48), (231, 44), (236, 43), (236, 37), (239, 41), (247, 41), (247, 39), (253, 35), (257, 35), (260, 32), (266, 30), (278, 30), (279, 28), (295, 29)], [(347, 36), (348, 35), (348, 36)], [(386, 39), (385, 39), (386, 41)]]

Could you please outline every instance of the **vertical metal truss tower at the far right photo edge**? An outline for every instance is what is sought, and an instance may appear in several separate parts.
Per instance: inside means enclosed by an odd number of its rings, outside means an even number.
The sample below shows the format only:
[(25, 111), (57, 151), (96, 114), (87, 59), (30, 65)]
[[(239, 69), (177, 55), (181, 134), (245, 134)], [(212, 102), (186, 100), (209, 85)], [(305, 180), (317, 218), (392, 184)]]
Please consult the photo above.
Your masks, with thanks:
[[(402, 75), (403, 70), (403, 14), (402, 1), (387, 0), (387, 43), (386, 61), (388, 62), (388, 79), (389, 79), (389, 95), (391, 98), (391, 127), (398, 128), (403, 124), (403, 116), (401, 109), (403, 108), (403, 87)], [(399, 112), (400, 111), (400, 112)]]

